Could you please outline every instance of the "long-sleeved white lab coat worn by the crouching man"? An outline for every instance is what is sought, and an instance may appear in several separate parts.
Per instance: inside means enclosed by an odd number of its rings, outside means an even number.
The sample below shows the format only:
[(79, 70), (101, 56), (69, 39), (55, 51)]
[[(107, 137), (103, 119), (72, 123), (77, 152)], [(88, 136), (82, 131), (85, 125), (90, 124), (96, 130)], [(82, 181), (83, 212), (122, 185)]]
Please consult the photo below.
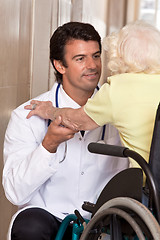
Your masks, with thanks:
[[(57, 83), (36, 99), (52, 101), (55, 106), (56, 87)], [(86, 132), (84, 137), (76, 133), (67, 142), (66, 157), (61, 162), (65, 143), (59, 145), (56, 153), (49, 153), (42, 146), (48, 120), (37, 116), (26, 119), (28, 110), (24, 106), (28, 103), (13, 111), (6, 131), (3, 171), (6, 197), (20, 211), (37, 206), (63, 219), (78, 209), (84, 217), (89, 217), (89, 213), (81, 209), (83, 202), (95, 202), (106, 183), (128, 167), (128, 160), (92, 154), (87, 150), (90, 142), (101, 139), (102, 128), (97, 128)], [(59, 107), (79, 107), (62, 86), (58, 103)], [(111, 125), (106, 126), (105, 141), (120, 144), (118, 132)]]

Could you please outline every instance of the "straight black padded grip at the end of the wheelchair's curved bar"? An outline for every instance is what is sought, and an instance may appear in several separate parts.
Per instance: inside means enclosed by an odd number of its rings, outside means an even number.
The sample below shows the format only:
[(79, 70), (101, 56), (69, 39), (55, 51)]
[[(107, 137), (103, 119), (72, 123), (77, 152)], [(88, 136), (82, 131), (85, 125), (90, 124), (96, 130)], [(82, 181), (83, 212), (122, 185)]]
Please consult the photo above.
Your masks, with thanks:
[(127, 157), (125, 155), (125, 150), (128, 149), (122, 146), (114, 146), (104, 143), (90, 143), (88, 145), (88, 150), (91, 153), (115, 156), (115, 157)]

